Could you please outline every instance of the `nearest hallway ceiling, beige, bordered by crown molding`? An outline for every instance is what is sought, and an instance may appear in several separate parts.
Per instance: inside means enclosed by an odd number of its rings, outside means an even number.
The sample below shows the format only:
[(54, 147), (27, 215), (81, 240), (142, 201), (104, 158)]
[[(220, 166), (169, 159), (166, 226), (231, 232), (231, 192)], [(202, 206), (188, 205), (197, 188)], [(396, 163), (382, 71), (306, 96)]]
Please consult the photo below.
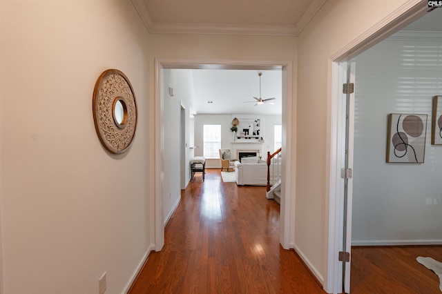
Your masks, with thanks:
[(131, 0), (151, 33), (297, 36), (326, 0)]

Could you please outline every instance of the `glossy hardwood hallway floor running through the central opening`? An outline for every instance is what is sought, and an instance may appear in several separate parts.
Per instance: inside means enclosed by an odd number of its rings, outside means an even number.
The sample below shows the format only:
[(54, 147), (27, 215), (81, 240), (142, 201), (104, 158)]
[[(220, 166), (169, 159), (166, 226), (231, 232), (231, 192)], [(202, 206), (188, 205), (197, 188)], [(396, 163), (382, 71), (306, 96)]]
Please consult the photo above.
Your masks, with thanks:
[(129, 293), (325, 293), (294, 251), (279, 244), (280, 206), (265, 187), (199, 174), (182, 193)]

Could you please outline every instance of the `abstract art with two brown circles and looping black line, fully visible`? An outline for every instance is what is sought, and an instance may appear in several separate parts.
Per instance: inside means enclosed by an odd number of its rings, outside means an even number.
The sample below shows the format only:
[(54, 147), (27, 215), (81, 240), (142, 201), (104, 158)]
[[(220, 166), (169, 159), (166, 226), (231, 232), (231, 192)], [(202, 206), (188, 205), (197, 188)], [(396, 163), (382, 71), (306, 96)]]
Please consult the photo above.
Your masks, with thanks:
[(422, 164), (425, 157), (427, 115), (390, 113), (387, 162)]

